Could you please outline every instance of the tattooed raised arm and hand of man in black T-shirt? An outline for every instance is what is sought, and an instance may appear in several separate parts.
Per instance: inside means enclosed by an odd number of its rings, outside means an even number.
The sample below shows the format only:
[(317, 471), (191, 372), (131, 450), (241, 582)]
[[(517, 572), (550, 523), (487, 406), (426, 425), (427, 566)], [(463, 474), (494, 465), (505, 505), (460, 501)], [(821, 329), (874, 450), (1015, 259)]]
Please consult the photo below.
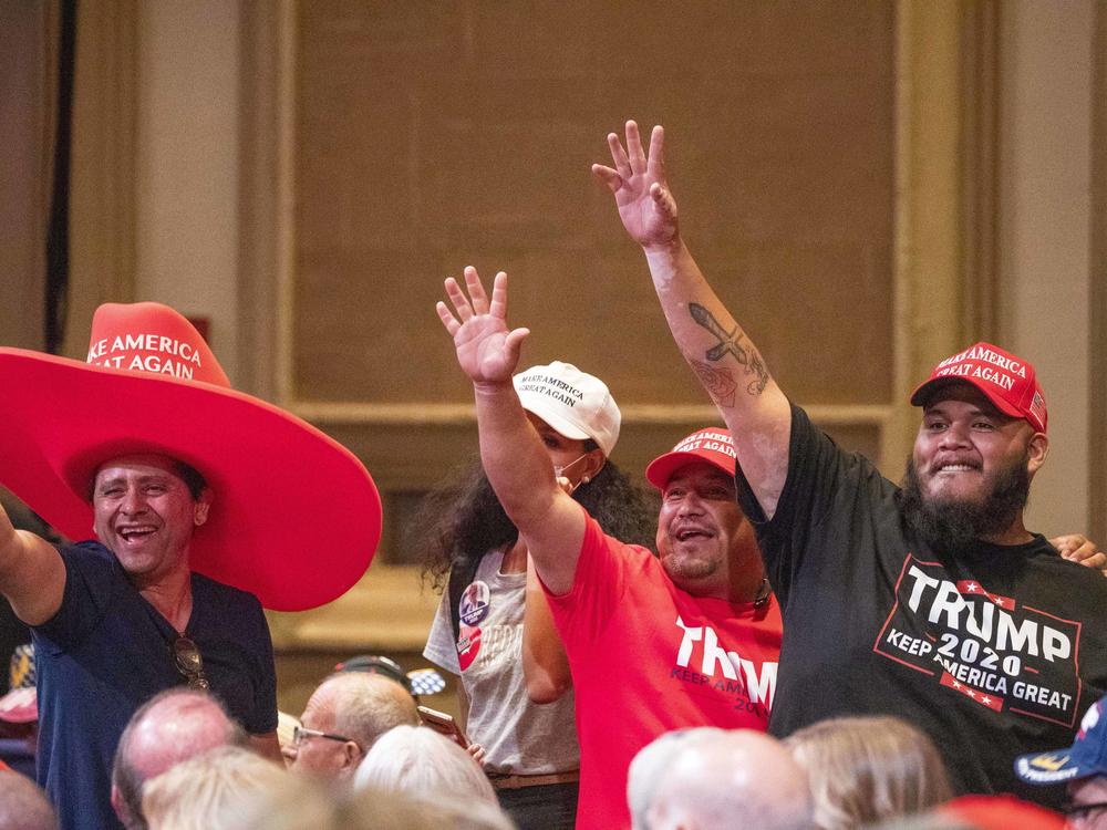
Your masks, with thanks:
[(611, 133), (612, 166), (592, 165), (592, 173), (614, 194), (623, 227), (642, 246), (673, 339), (731, 428), (742, 470), (772, 517), (788, 471), (788, 401), (681, 239), (664, 137), (654, 127), (646, 155), (638, 124), (629, 121), (625, 148)]

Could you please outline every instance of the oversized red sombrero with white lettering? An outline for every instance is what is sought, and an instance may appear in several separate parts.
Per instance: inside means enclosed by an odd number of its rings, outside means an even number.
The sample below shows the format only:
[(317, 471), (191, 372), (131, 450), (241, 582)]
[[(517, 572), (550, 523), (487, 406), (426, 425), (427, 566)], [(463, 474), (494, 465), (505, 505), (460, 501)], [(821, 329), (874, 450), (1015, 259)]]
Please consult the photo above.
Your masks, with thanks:
[(92, 535), (103, 461), (159, 453), (214, 492), (193, 570), (300, 611), (340, 596), (381, 537), (365, 467), (310, 424), (230, 388), (193, 325), (159, 303), (101, 305), (89, 362), (0, 347), (0, 483), (72, 539)]

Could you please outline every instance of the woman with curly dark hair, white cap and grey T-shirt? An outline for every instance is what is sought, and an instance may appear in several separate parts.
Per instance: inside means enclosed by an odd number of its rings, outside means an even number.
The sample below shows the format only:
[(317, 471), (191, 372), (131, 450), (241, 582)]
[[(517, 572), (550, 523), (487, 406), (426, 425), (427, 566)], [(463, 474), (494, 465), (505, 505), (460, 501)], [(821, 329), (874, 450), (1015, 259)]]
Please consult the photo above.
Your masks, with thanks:
[[(517, 375), (515, 388), (561, 486), (607, 533), (652, 547), (656, 510), (608, 460), (621, 416), (603, 382), (555, 362)], [(571, 828), (580, 765), (572, 695), (563, 694), (571, 682), (534, 574), (528, 591), (526, 546), (479, 463), (432, 492), (421, 515), (433, 517), (420, 535), (424, 574), (445, 585), (423, 654), (459, 675), (468, 737), (484, 747), (520, 830)], [(554, 702), (532, 703), (528, 681), (535, 697)]]

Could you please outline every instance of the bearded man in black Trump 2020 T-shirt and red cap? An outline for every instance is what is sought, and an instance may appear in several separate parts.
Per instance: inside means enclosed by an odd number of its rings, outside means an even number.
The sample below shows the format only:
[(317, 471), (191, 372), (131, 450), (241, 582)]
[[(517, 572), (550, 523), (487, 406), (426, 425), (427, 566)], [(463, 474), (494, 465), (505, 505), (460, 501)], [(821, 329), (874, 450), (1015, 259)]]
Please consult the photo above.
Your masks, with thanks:
[(685, 248), (661, 127), (608, 136), (593, 166), (645, 252), (673, 336), (734, 435), (737, 497), (780, 602), (769, 732), (892, 714), (934, 739), (963, 792), (1059, 803), (1013, 774), (1070, 743), (1107, 691), (1107, 582), (1023, 523), (1045, 460), (1046, 402), (1026, 361), (987, 343), (942, 361), (901, 489), (788, 401)]

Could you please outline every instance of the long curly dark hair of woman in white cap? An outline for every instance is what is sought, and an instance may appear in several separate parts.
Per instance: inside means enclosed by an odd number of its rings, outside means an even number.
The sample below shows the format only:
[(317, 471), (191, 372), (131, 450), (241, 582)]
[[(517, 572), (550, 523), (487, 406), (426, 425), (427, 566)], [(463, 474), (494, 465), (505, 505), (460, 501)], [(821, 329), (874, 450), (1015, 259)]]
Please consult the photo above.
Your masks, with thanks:
[[(596, 444), (587, 440), (584, 449), (596, 449)], [(610, 460), (591, 481), (573, 490), (572, 497), (608, 536), (653, 550), (658, 533), (656, 496), (635, 486)], [(423, 579), (430, 580), (436, 590), (445, 584), (446, 575), (457, 563), (478, 560), (490, 550), (514, 543), (519, 536), (496, 498), (479, 458), (427, 494), (417, 516), (433, 520), (410, 527), (408, 543), (421, 551)]]

